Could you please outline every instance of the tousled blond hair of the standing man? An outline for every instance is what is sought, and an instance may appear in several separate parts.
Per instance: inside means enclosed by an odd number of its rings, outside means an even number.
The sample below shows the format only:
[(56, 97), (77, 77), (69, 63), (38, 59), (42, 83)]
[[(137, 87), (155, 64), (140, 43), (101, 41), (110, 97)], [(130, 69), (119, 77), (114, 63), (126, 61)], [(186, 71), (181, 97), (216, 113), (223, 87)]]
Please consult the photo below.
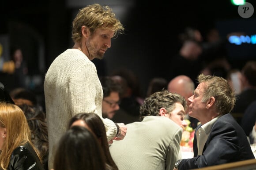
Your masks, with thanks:
[(98, 28), (112, 30), (114, 36), (124, 31), (123, 25), (112, 9), (100, 4), (92, 4), (80, 9), (72, 24), (72, 39), (75, 43), (81, 41), (83, 25), (89, 28), (92, 34)]

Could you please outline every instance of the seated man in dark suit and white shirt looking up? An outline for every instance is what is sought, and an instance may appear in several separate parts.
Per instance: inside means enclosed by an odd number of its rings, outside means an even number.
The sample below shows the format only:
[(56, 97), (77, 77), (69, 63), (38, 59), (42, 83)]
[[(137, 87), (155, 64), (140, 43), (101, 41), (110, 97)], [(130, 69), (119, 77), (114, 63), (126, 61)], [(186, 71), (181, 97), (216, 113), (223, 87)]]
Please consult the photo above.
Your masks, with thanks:
[(198, 76), (199, 85), (188, 98), (189, 116), (200, 121), (196, 128), (194, 157), (180, 159), (174, 170), (255, 159), (244, 130), (230, 111), (236, 98), (228, 82), (218, 76)]

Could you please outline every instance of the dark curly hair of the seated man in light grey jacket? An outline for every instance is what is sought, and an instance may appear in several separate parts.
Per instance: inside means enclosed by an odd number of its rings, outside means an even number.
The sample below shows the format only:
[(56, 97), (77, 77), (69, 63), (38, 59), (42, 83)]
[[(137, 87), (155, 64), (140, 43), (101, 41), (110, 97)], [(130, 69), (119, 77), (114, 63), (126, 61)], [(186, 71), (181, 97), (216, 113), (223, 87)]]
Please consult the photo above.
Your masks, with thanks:
[(159, 116), (161, 108), (165, 108), (167, 112), (172, 112), (174, 104), (177, 102), (186, 109), (187, 102), (180, 94), (171, 93), (168, 90), (155, 92), (146, 98), (143, 105), (140, 106), (140, 120), (143, 120), (145, 116)]

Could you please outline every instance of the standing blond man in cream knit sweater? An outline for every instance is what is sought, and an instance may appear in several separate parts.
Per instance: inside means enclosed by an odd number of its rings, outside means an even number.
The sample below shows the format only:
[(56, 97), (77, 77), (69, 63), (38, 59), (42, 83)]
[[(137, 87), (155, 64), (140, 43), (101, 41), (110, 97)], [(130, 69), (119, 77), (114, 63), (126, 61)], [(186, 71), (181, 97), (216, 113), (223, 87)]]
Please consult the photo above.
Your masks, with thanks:
[[(49, 169), (53, 168), (56, 145), (72, 116), (94, 112), (102, 118), (103, 90), (91, 60), (102, 59), (111, 47), (111, 39), (123, 30), (123, 25), (108, 6), (88, 5), (76, 15), (72, 31), (74, 46), (60, 54), (45, 75)], [(127, 128), (124, 123), (102, 120), (109, 143), (125, 137)]]

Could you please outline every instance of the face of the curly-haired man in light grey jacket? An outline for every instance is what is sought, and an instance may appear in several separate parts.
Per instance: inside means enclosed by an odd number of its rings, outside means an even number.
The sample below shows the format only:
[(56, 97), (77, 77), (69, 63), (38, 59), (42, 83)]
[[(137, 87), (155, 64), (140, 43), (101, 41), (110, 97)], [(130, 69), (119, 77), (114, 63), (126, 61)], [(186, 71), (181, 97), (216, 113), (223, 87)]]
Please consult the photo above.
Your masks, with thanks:
[(185, 110), (181, 103), (175, 103), (174, 109), (169, 114), (165, 114), (166, 117), (173, 120), (180, 127), (186, 127), (187, 123), (184, 121)]

